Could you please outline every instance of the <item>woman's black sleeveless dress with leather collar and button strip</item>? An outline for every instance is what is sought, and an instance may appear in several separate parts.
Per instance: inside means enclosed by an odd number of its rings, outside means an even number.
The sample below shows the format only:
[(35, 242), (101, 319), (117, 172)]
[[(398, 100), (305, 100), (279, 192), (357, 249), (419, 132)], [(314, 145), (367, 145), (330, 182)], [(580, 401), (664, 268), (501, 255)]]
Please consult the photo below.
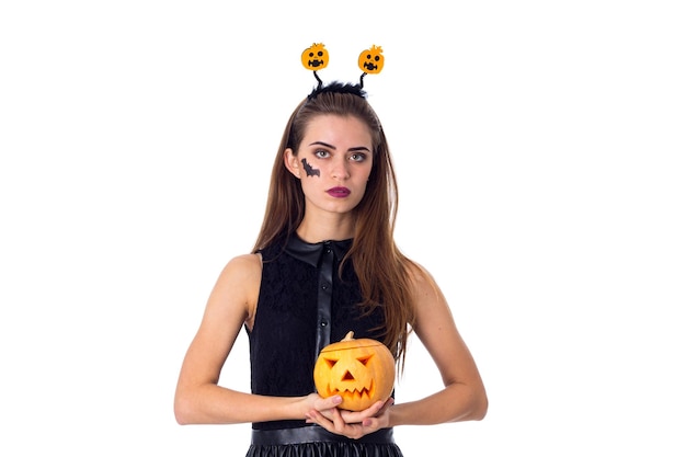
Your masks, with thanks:
[[(364, 315), (351, 262), (338, 274), (352, 240), (307, 243), (295, 233), (260, 251), (263, 270), (252, 331), (248, 331), (253, 393), (300, 397), (316, 391), (319, 351), (354, 338), (379, 340), (384, 312)], [(381, 329), (381, 330), (379, 330)], [(256, 422), (247, 457), (402, 457), (392, 429), (361, 439), (332, 434), (305, 420)]]

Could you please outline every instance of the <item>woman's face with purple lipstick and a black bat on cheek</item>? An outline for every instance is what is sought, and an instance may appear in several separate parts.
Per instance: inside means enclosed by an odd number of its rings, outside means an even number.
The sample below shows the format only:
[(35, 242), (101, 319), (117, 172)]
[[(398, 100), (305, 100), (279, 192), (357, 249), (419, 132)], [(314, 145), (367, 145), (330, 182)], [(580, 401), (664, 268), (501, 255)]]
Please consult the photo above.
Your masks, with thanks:
[(320, 115), (306, 128), (298, 155), (287, 149), (288, 170), (300, 180), (306, 207), (344, 214), (365, 194), (373, 162), (371, 134), (353, 116)]

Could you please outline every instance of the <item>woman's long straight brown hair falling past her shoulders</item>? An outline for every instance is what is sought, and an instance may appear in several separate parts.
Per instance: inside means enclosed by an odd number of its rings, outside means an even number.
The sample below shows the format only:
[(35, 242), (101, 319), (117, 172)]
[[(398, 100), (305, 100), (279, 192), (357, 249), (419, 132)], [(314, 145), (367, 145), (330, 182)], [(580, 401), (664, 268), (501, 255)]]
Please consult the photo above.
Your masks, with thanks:
[(409, 265), (393, 239), (398, 212), (398, 185), (388, 142), (381, 124), (365, 98), (345, 91), (319, 93), (304, 100), (293, 112), (282, 137), (272, 169), (262, 228), (253, 248), (259, 251), (278, 238), (295, 232), (305, 216), (300, 182), (286, 169), (284, 152), (298, 147), (312, 118), (334, 114), (354, 116), (371, 133), (374, 162), (365, 195), (354, 209), (355, 236), (343, 259), (351, 261), (359, 278), (366, 310), (381, 306), (386, 318), (384, 343), (404, 365), (408, 335), (415, 321)]

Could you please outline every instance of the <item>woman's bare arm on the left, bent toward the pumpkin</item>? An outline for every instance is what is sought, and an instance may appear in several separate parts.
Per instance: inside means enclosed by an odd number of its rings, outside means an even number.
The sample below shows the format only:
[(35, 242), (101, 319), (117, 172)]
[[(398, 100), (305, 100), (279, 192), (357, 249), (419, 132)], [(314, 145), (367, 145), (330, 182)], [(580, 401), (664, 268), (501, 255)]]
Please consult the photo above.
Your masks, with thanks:
[(219, 275), (176, 384), (174, 414), (180, 424), (305, 419), (312, 409), (335, 405), (335, 399), (324, 400), (317, 395), (264, 397), (217, 385), (242, 325), (252, 325), (261, 275), (262, 261), (256, 254), (231, 260)]

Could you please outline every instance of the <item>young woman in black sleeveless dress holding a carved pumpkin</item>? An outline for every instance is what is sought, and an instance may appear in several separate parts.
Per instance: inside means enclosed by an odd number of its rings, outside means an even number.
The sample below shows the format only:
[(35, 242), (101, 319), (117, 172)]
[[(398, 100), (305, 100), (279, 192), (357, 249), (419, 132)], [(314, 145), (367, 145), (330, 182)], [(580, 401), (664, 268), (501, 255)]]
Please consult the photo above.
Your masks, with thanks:
[[(396, 175), (381, 124), (359, 84), (317, 88), (291, 114), (252, 253), (226, 265), (181, 368), (180, 424), (252, 423), (248, 456), (401, 456), (397, 425), (481, 420), (485, 390), (432, 276), (393, 240)], [(244, 328), (251, 393), (218, 386)], [(319, 351), (381, 341), (402, 369), (410, 332), (445, 385), (416, 401), (336, 408), (316, 393)]]

